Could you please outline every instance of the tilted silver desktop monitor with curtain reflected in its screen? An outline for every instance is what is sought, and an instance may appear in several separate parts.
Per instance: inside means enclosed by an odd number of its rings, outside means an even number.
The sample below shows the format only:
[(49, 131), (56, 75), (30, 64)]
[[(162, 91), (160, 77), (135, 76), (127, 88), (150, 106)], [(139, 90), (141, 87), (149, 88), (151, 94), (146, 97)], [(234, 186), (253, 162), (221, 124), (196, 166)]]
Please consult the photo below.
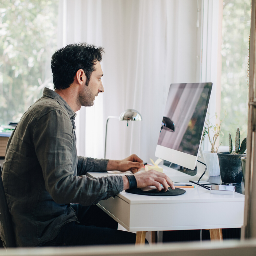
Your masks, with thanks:
[(212, 83), (170, 85), (156, 157), (195, 169), (211, 90)]

